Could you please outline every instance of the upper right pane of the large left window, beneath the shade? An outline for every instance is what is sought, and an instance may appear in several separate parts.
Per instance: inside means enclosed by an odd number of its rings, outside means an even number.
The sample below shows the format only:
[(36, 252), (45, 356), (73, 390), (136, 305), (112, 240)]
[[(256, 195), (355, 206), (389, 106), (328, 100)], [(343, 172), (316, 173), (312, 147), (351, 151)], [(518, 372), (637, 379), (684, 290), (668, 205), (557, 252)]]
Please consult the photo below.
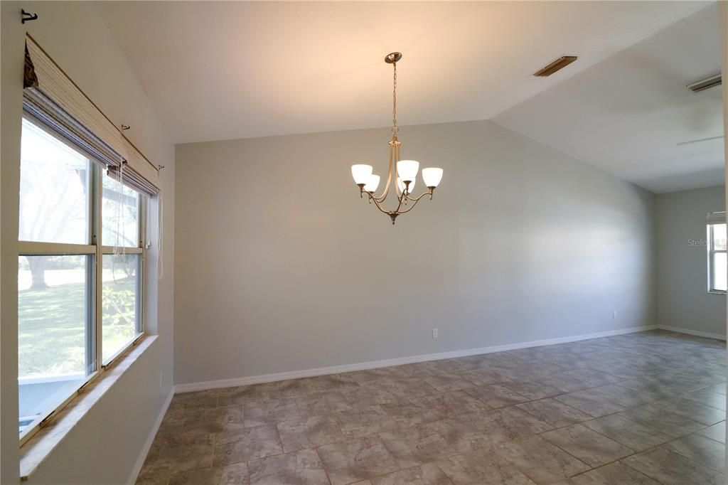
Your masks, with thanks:
[(104, 176), (101, 219), (103, 245), (139, 247), (139, 192)]

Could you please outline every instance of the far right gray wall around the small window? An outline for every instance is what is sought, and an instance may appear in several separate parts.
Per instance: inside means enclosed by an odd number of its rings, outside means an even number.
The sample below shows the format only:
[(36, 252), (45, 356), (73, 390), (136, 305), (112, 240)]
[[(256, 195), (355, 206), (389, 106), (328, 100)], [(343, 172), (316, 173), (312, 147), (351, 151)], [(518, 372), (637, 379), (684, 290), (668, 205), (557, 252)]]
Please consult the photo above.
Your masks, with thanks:
[(705, 214), (725, 208), (725, 188), (657, 195), (657, 321), (725, 336), (726, 297), (708, 293)]

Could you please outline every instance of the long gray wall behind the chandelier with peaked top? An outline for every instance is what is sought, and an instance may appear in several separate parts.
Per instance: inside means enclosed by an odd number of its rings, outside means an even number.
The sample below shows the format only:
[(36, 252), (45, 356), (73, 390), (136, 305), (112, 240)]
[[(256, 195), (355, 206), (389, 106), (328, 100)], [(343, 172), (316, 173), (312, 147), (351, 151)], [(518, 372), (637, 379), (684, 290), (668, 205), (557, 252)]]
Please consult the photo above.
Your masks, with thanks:
[(445, 176), (392, 226), (349, 171), (386, 175), (388, 140), (176, 147), (176, 383), (656, 323), (653, 194), (494, 122), (420, 125), (403, 158)]

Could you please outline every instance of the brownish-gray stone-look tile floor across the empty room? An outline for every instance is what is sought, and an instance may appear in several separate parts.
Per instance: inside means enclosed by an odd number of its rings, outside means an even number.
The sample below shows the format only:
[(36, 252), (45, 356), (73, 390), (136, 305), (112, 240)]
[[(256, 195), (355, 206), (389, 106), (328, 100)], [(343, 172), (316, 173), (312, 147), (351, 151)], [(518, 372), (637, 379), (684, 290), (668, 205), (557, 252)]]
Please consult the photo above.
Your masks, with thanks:
[(722, 485), (725, 366), (649, 331), (179, 394), (137, 483)]

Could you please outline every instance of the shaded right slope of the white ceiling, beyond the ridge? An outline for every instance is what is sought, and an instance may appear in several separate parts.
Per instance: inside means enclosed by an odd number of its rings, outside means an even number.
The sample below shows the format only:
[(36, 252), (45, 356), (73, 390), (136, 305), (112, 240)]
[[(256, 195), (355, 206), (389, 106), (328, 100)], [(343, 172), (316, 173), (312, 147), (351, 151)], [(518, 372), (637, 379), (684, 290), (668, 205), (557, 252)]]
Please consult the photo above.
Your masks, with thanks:
[(724, 184), (715, 4), (571, 76), (494, 121), (655, 192)]

